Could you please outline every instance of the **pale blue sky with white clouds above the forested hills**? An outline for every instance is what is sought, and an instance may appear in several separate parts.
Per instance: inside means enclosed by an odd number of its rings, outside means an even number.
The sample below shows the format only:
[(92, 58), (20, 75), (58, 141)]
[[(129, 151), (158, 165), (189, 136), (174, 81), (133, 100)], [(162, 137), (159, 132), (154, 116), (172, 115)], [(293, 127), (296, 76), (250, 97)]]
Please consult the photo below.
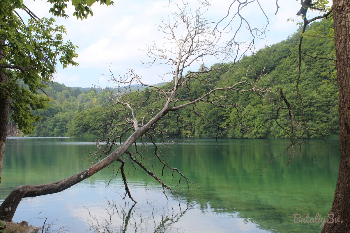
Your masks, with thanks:
[[(194, 0), (190, 0), (190, 2)], [(231, 1), (212, 0), (211, 7), (206, 13), (208, 19), (218, 21), (227, 14)], [(49, 13), (50, 4), (46, 1), (26, 0), (25, 5), (38, 17), (52, 17)], [(76, 62), (79, 66), (69, 66), (63, 69), (57, 65), (54, 81), (66, 86), (101, 87), (114, 86), (109, 82), (109, 69), (116, 77), (125, 76), (129, 69), (134, 69), (146, 84), (156, 84), (171, 79), (163, 77), (169, 72), (169, 66), (153, 64), (145, 67), (142, 62), (149, 62), (145, 55), (146, 44), (155, 41), (158, 45), (165, 42), (164, 34), (157, 28), (160, 19), (168, 19), (175, 11), (175, 6), (169, 0), (114, 0), (114, 6), (91, 6), (93, 16), (84, 20), (77, 20), (73, 14), (73, 6), (68, 2), (66, 13), (68, 19), (56, 17), (56, 24), (63, 24), (67, 29), (64, 40), (70, 40), (78, 45), (79, 54)], [(255, 43), (257, 49), (285, 40), (293, 34), (297, 26), (295, 22), (287, 21), (290, 18), (298, 20), (296, 12), (300, 9), (300, 2), (294, 0), (280, 0), (279, 10), (276, 12), (275, 0), (260, 0), (260, 5), (268, 17), (266, 38)], [(266, 18), (257, 4), (243, 11), (247, 21), (252, 26), (262, 27)], [(299, 19), (300, 20), (300, 19)], [(235, 22), (233, 23), (235, 27)], [(244, 29), (244, 28), (243, 28)], [(226, 34), (227, 38), (232, 35)], [(248, 38), (247, 30), (242, 30), (242, 38)], [(247, 54), (250, 55), (250, 54)], [(142, 62), (141, 62), (142, 61)], [(210, 58), (205, 65), (210, 66), (216, 61)], [(199, 68), (194, 64), (191, 70)]]

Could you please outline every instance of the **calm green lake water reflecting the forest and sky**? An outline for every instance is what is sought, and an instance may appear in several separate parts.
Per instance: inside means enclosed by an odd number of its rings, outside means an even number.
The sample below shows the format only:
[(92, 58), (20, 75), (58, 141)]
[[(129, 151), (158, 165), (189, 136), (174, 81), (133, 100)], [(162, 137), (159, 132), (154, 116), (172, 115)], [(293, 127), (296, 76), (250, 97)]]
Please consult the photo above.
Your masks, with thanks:
[[(94, 144), (82, 139), (10, 139), (3, 164), (0, 199), (16, 186), (58, 181), (86, 169), (84, 160)], [(286, 147), (284, 140), (198, 139), (172, 144), (166, 160), (190, 181), (162, 193), (161, 186), (142, 170), (128, 167), (127, 179), (137, 204), (124, 197), (120, 174), (113, 179), (103, 170), (79, 184), (52, 195), (25, 198), (14, 221), (26, 220), (40, 226), (43, 219), (66, 225), (70, 232), (320, 232), (320, 223), (294, 223), (292, 215), (328, 215), (337, 180), (338, 149), (322, 141), (305, 144), (300, 155), (274, 160)], [(338, 141), (332, 141), (336, 146)], [(217, 146), (216, 146), (217, 145)], [(153, 158), (154, 147), (141, 146)], [(317, 163), (314, 163), (314, 160)], [(146, 161), (144, 161), (146, 162)], [(151, 168), (152, 162), (147, 167)], [(115, 163), (119, 167), (119, 163)], [(161, 166), (155, 167), (160, 174)], [(176, 185), (171, 172), (161, 177)], [(109, 183), (109, 185), (108, 185)]]

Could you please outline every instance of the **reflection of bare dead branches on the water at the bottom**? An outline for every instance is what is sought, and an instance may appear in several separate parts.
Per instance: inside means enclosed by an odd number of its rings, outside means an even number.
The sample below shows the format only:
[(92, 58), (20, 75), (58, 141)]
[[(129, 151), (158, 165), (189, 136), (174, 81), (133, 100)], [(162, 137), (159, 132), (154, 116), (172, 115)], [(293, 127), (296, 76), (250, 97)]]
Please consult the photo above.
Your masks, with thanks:
[[(108, 200), (107, 207), (104, 208), (107, 214), (98, 217), (99, 213), (87, 212), (90, 216), (90, 231), (93, 233), (126, 233), (126, 232), (179, 232), (173, 224), (177, 223), (182, 216), (193, 209), (198, 203), (187, 200), (179, 200), (176, 206), (166, 205), (162, 210), (158, 210), (152, 202), (145, 203), (148, 207), (137, 206), (136, 203), (126, 203), (122, 206), (117, 202)], [(138, 204), (139, 205), (139, 204)], [(141, 207), (141, 208), (140, 208)], [(148, 208), (148, 209), (147, 209)]]

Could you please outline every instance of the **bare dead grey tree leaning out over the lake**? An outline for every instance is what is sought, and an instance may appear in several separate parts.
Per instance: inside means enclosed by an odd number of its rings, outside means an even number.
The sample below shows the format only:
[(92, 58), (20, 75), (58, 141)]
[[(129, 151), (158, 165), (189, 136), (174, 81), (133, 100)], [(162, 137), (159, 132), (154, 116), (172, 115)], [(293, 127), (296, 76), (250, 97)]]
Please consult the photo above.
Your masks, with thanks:
[[(207, 10), (207, 4), (203, 3), (195, 11), (190, 9), (189, 3), (184, 3), (184, 6), (175, 4), (175, 6), (178, 12), (174, 13), (173, 21), (170, 19), (168, 21), (162, 20), (159, 25), (159, 29), (166, 35), (167, 42), (161, 48), (158, 48), (155, 44), (147, 48), (147, 55), (152, 61), (146, 64), (152, 65), (160, 61), (161, 64), (171, 66), (171, 71), (168, 74), (172, 75), (173, 80), (169, 85), (166, 88), (160, 88), (144, 84), (141, 81), (141, 77), (134, 70), (130, 70), (129, 75), (126, 77), (114, 77), (111, 72), (110, 79), (117, 84), (117, 92), (106, 91), (110, 93), (109, 103), (115, 108), (110, 112), (112, 120), (105, 125), (108, 133), (103, 134), (103, 138), (99, 141), (99, 143), (105, 143), (105, 146), (98, 145), (102, 152), (96, 154), (97, 157), (94, 161), (96, 163), (90, 168), (61, 181), (50, 184), (19, 186), (1, 204), (1, 220), (12, 220), (22, 198), (47, 195), (68, 189), (101, 169), (108, 167), (114, 161), (122, 161), (120, 157), (124, 154), (128, 154), (130, 157), (129, 161), (144, 169), (163, 188), (172, 191), (172, 188), (164, 184), (154, 172), (142, 164), (142, 159), (144, 158), (136, 147), (136, 141), (140, 138), (142, 139), (143, 135), (150, 136), (153, 134), (160, 139), (162, 144), (167, 145), (167, 132), (164, 132), (160, 126), (164, 120), (163, 117), (168, 113), (178, 112), (181, 109), (193, 111), (193, 107), (197, 103), (209, 104), (215, 107), (236, 106), (219, 94), (216, 94), (217, 92), (256, 91), (265, 93), (270, 90), (258, 86), (259, 80), (264, 77), (263, 72), (254, 78), (243, 77), (238, 82), (218, 82), (215, 78), (215, 73), (227, 72), (234, 65), (234, 63), (228, 63), (228, 59), (232, 58), (233, 49), (221, 42), (221, 37), (214, 30), (216, 24), (211, 25), (212, 23), (205, 19), (204, 13)], [(182, 27), (181, 30), (179, 29), (180, 26)], [(205, 68), (203, 62), (206, 61), (207, 57), (214, 57), (219, 61), (219, 64), (211, 68)], [(198, 71), (188, 72), (187, 69), (195, 63), (202, 63), (202, 68)], [(193, 89), (191, 90), (192, 82), (199, 82), (205, 86), (205, 94), (193, 96)], [(134, 83), (141, 83), (150, 88), (150, 90), (137, 92), (136, 98), (133, 99), (132, 93), (129, 93), (131, 85)], [(181, 98), (180, 94), (183, 92), (188, 93), (190, 98)], [(141, 106), (146, 104), (148, 104), (148, 111), (141, 114), (139, 110)], [(124, 115), (120, 116), (120, 114)], [(205, 119), (205, 117), (202, 119)], [(128, 134), (130, 136), (124, 140), (124, 135)], [(129, 148), (133, 145), (135, 145), (136, 149), (135, 155), (140, 156), (140, 160), (129, 152)], [(155, 150), (155, 156), (161, 161), (163, 166), (180, 175), (179, 183), (181, 178), (186, 179), (187, 184), (189, 183), (179, 169), (172, 168), (167, 163), (162, 162), (163, 158), (158, 156), (157, 150)], [(135, 166), (135, 164), (133, 165)], [(124, 163), (122, 166), (124, 166)], [(128, 191), (124, 170), (121, 173), (122, 176), (124, 175), (123, 181)], [(164, 193), (166, 195), (165, 190)], [(129, 196), (131, 197), (131, 195)]]

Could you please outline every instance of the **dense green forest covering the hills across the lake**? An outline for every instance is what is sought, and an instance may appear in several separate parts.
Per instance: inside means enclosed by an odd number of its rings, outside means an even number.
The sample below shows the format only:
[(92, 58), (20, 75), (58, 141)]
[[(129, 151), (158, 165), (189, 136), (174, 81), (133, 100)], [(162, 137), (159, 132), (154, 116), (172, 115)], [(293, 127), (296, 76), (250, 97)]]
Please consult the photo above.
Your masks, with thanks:
[[(297, 103), (295, 115), (300, 122), (306, 123), (311, 129), (303, 138), (335, 139), (338, 135), (338, 89), (335, 76), (335, 45), (334, 38), (329, 36), (332, 26), (331, 19), (326, 19), (309, 26), (307, 36), (302, 44), (302, 66), (299, 82), (299, 91), (303, 99), (304, 110), (301, 103)], [(273, 87), (271, 93), (259, 94), (256, 92), (222, 92), (232, 103), (242, 105), (241, 114), (236, 108), (219, 108), (205, 103), (198, 103), (196, 111), (220, 126), (239, 125), (228, 130), (220, 131), (218, 127), (208, 120), (199, 118), (194, 112), (180, 110), (179, 114), (169, 113), (162, 121), (161, 127), (170, 136), (177, 137), (218, 137), (228, 138), (257, 138), (257, 139), (284, 139), (287, 133), (275, 121), (280, 106), (279, 92), (283, 89), (290, 103), (295, 99), (295, 80), (298, 71), (297, 47), (300, 34), (288, 37), (280, 43), (259, 50), (253, 56), (244, 56), (234, 64), (233, 69), (224, 73), (216, 73), (216, 82), (237, 82), (248, 73), (254, 78), (265, 68), (266, 77), (260, 82), (261, 86)], [(321, 59), (322, 58), (322, 59)], [(327, 59), (324, 59), (327, 58)], [(214, 65), (215, 66), (215, 65)], [(167, 83), (162, 83), (167, 86)], [(190, 83), (196, 93), (201, 96), (203, 90), (200, 83)], [(143, 89), (142, 89), (143, 90)], [(36, 112), (42, 119), (37, 124), (32, 136), (69, 136), (69, 137), (96, 137), (101, 125), (110, 120), (108, 114), (109, 94), (94, 87), (83, 89), (79, 87), (66, 87), (64, 84), (53, 83), (45, 90), (52, 100), (50, 106)], [(181, 93), (180, 93), (181, 94)], [(129, 93), (131, 98), (138, 98), (142, 92)], [(300, 102), (300, 100), (298, 100)], [(147, 111), (148, 103), (144, 109), (139, 109), (140, 115)], [(179, 115), (182, 119), (179, 120)], [(279, 112), (280, 125), (289, 127), (288, 112)], [(179, 127), (178, 127), (179, 126)], [(312, 130), (317, 129), (317, 130)], [(297, 132), (297, 129), (296, 129)]]

